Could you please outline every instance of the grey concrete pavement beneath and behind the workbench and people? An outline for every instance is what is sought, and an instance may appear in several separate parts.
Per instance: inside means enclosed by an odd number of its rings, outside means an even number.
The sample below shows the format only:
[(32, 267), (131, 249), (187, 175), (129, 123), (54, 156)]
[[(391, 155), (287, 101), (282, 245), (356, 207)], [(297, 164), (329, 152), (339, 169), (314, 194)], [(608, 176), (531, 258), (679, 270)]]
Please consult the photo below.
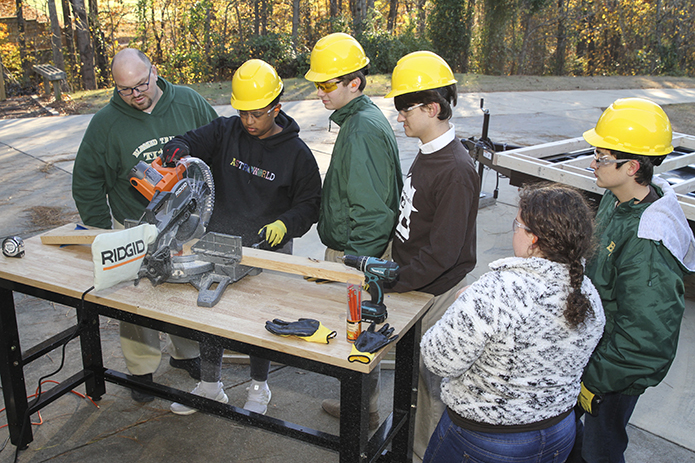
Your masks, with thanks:
[[(482, 112), (480, 98), (490, 110), (490, 138), (497, 142), (532, 145), (572, 138), (592, 127), (601, 112), (613, 100), (626, 96), (643, 96), (660, 104), (695, 101), (695, 89), (646, 89), (581, 92), (519, 92), (462, 94), (453, 123), (459, 137), (480, 136)], [(407, 172), (417, 152), (417, 142), (404, 136), (396, 122), (392, 100), (375, 98), (392, 123), (397, 135), (403, 171)], [(220, 115), (231, 115), (231, 106), (216, 108)], [(322, 173), (330, 161), (337, 127), (328, 131), (328, 114), (317, 100), (283, 104), (302, 128), (301, 136), (312, 148)], [(75, 217), (70, 195), (74, 155), (91, 116), (43, 117), (0, 121), (0, 237), (9, 234), (30, 236), (40, 226), (32, 223), (26, 212), (35, 206), (63, 208), (65, 217)], [(495, 173), (486, 171), (484, 191), (492, 191)], [(511, 221), (516, 214), (516, 188), (502, 179), (499, 199), (481, 209), (478, 218), (479, 264), (473, 277), (487, 269), (497, 258), (512, 254)], [(27, 250), (27, 252), (31, 252)], [(322, 258), (321, 246), (312, 229), (295, 243), (295, 253)], [(1, 258), (0, 258), (1, 259)], [(1, 261), (0, 261), (1, 265)], [(233, 290), (233, 288), (230, 288)], [(24, 348), (40, 336), (53, 334), (58, 326), (71, 320), (72, 311), (24, 296), (17, 297)], [(124, 371), (120, 354), (117, 324), (102, 320), (108, 367)], [(73, 343), (74, 344), (74, 343)], [(679, 352), (669, 375), (656, 388), (645, 393), (637, 405), (629, 428), (631, 443), (628, 462), (695, 462), (695, 304), (692, 298), (683, 320)], [(59, 353), (41, 359), (30, 367), (29, 385), (60, 362)], [(48, 356), (46, 356), (48, 357)], [(68, 347), (68, 370), (77, 365), (77, 346)], [(195, 382), (187, 375), (162, 362), (156, 379), (165, 384), (192, 388)], [(41, 369), (43, 367), (43, 369)], [(64, 377), (59, 374), (59, 377)], [(386, 383), (392, 381), (385, 373)], [(67, 376), (67, 373), (65, 373)], [(243, 403), (248, 370), (244, 365), (225, 365), (223, 381), (231, 403)], [(276, 366), (271, 373), (273, 402), (269, 414), (283, 419), (300, 416), (307, 425), (337, 432), (337, 420), (320, 410), (320, 400), (337, 396), (338, 386), (332, 379)], [(33, 386), (30, 386), (30, 389)], [(384, 388), (388, 390), (389, 388)], [(389, 395), (382, 394), (386, 407)], [(107, 396), (100, 409), (79, 399), (64, 397), (44, 410), (44, 424), (34, 428), (35, 441), (22, 452), (20, 462), (81, 461), (92, 458), (102, 462), (126, 461), (337, 461), (332, 452), (308, 444), (278, 437), (255, 429), (202, 414), (177, 417), (168, 412), (168, 403), (155, 400), (139, 405), (130, 400), (129, 391), (107, 386)], [(4, 406), (4, 405), (2, 405)], [(5, 421), (0, 415), (0, 425)], [(0, 430), (0, 448), (6, 431)], [(12, 461), (14, 447), (0, 452), (0, 463)]]

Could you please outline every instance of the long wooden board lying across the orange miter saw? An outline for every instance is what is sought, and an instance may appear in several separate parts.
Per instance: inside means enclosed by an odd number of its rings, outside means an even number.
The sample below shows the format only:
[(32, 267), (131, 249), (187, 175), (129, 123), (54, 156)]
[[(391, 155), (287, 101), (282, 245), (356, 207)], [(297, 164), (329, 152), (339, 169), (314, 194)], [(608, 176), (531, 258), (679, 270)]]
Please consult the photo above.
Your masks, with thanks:
[[(55, 230), (51, 230), (41, 235), (41, 243), (63, 245), (63, 244), (92, 244), (94, 238), (102, 233), (113, 233), (118, 230), (75, 230), (75, 225), (66, 225)], [(358, 270), (346, 267), (337, 262), (326, 262), (322, 260), (310, 259), (302, 256), (292, 256), (261, 249), (242, 248), (241, 264), (249, 267), (258, 267), (278, 272), (292, 273), (307, 277), (321, 278), (323, 280), (339, 281), (364, 281), (364, 274)]]

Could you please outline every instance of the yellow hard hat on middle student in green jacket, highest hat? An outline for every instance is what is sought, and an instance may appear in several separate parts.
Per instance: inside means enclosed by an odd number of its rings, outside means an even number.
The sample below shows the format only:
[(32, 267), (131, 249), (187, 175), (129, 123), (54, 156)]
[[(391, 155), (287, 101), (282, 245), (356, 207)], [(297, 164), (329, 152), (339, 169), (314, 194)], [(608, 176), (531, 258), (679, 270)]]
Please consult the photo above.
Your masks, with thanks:
[(362, 45), (342, 32), (330, 34), (316, 42), (311, 50), (311, 67), (304, 78), (311, 82), (326, 82), (369, 64)]

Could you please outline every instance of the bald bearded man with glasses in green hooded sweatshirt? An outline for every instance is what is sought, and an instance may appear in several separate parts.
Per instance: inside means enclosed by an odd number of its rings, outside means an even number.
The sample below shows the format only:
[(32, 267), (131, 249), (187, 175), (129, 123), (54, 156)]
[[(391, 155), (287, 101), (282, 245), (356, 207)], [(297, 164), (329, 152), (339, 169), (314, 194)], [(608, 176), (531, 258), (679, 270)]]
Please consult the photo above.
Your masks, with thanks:
[[(108, 105), (97, 112), (77, 151), (72, 196), (85, 225), (123, 228), (139, 219), (147, 199), (130, 185), (139, 161), (151, 162), (174, 136), (211, 122), (215, 110), (195, 91), (172, 85), (141, 51), (126, 48), (111, 63), (115, 83)], [(200, 378), (198, 343), (170, 336), (170, 364)], [(152, 380), (161, 361), (156, 330), (121, 322), (121, 347), (131, 374)], [(132, 391), (149, 402), (148, 394)]]

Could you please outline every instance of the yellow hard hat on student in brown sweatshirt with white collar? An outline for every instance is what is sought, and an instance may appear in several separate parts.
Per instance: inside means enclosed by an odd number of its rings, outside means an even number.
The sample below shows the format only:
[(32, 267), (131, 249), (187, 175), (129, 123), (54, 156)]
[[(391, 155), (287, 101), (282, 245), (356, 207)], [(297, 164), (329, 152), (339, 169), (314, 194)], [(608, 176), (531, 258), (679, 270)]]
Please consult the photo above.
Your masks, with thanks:
[(415, 51), (398, 60), (391, 74), (391, 91), (386, 98), (455, 84), (449, 65), (431, 51)]

